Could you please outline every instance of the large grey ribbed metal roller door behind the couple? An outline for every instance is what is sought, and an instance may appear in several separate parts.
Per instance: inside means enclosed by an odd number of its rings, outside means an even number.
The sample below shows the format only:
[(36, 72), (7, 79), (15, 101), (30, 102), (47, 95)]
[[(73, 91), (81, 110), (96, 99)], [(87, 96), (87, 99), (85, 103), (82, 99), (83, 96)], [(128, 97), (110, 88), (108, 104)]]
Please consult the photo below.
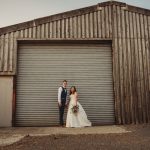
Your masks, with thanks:
[[(110, 45), (20, 45), (16, 126), (57, 125), (57, 90), (75, 85), (93, 124), (114, 124)], [(68, 92), (69, 93), (69, 92)]]

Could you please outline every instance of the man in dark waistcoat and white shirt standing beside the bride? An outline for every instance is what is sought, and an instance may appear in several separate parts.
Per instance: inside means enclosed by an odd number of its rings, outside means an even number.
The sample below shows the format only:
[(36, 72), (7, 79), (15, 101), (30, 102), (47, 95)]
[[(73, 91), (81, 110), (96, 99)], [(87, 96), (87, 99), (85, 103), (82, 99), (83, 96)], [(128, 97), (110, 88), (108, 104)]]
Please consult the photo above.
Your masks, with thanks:
[(59, 124), (64, 126), (63, 116), (65, 106), (67, 106), (67, 81), (64, 80), (61, 87), (58, 89), (58, 107), (59, 107)]

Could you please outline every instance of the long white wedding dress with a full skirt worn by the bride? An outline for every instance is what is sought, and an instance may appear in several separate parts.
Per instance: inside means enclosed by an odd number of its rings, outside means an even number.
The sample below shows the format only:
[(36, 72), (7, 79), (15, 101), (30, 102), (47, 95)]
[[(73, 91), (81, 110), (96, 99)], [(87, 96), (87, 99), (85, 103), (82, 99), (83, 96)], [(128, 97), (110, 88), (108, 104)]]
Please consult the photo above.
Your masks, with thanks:
[(82, 105), (77, 101), (79, 110), (77, 113), (72, 112), (72, 107), (75, 105), (75, 94), (70, 95), (70, 102), (67, 112), (66, 127), (87, 127), (91, 126), (91, 122), (87, 119), (87, 115)]

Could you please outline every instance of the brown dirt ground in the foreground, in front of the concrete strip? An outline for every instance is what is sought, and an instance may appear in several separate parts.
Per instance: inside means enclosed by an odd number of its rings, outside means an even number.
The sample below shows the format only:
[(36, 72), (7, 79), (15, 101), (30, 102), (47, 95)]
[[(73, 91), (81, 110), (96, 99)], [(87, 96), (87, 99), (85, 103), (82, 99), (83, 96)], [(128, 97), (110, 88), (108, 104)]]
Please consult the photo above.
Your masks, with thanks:
[(0, 150), (150, 150), (150, 125), (124, 126), (132, 132), (26, 136)]

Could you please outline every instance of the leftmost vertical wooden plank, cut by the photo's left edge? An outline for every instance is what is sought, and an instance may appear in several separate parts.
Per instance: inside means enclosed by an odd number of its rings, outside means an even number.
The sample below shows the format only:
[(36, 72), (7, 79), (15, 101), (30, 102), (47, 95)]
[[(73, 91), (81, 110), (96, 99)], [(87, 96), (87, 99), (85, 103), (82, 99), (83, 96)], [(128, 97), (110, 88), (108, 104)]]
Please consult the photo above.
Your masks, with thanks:
[(0, 36), (0, 71), (3, 71), (4, 63), (4, 35)]

